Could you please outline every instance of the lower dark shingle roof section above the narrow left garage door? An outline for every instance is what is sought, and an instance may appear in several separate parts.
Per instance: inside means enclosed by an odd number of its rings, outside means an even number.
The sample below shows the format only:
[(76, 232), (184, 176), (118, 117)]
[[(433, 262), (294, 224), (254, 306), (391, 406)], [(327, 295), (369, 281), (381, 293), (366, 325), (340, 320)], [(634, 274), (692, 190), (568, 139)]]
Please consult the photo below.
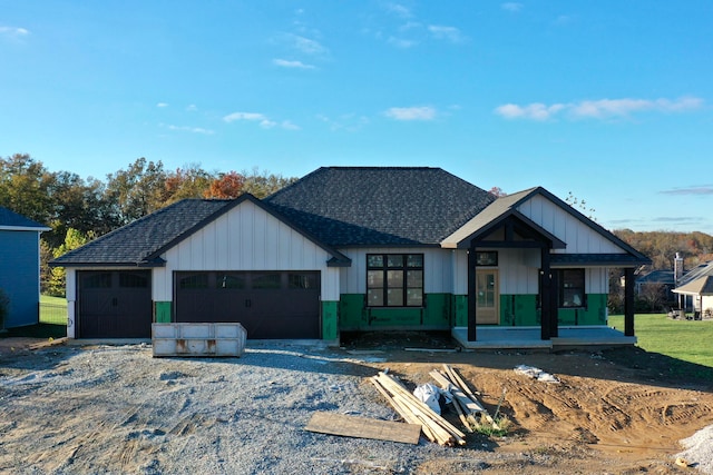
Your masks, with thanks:
[(159, 265), (156, 254), (199, 228), (235, 200), (184, 199), (52, 260), (52, 265)]

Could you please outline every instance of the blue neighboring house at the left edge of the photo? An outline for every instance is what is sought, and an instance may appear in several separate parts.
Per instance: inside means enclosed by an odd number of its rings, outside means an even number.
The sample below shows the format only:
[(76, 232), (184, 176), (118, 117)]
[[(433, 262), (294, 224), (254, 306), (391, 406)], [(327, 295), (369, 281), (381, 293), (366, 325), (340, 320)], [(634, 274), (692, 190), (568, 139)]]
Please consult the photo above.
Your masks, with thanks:
[(4, 328), (39, 321), (40, 232), (49, 230), (0, 206), (0, 289), (9, 299)]

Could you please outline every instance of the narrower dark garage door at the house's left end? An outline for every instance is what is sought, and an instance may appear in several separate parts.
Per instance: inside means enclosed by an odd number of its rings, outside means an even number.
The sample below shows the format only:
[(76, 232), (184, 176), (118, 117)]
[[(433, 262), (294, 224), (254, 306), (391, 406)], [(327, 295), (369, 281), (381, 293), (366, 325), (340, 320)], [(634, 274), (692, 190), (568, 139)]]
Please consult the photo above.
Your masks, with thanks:
[(78, 271), (79, 338), (150, 338), (150, 270)]

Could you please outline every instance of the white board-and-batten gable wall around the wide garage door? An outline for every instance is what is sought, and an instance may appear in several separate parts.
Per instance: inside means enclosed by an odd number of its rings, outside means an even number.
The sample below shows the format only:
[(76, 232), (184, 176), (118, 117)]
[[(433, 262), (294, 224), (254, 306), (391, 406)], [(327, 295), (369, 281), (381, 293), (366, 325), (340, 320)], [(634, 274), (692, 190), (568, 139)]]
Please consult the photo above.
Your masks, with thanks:
[(320, 270), (322, 300), (339, 300), (339, 269), (314, 241), (251, 201), (243, 201), (168, 249), (154, 269), (153, 298), (173, 299), (176, 270)]

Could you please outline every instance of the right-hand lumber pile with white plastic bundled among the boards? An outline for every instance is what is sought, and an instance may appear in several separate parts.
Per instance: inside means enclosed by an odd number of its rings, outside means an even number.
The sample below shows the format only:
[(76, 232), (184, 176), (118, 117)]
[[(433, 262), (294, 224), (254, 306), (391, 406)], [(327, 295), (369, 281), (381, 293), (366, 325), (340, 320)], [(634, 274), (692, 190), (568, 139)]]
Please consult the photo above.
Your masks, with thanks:
[(473, 432), (472, 427), (482, 425), (488, 425), (496, 431), (500, 428), (455, 368), (443, 365), (443, 369), (433, 369), (429, 375), (441, 389), (453, 396), (453, 407), (458, 418), (468, 432)]

